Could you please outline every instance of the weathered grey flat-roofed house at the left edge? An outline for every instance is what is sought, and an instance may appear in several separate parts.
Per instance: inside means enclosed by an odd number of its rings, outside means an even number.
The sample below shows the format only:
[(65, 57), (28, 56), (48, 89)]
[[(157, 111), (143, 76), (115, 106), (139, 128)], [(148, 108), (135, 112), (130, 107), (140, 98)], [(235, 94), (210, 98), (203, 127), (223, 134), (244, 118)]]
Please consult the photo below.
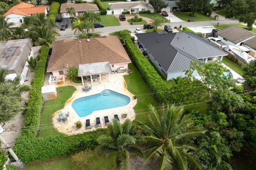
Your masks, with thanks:
[(30, 39), (9, 40), (0, 43), (0, 68), (9, 70), (6, 80), (20, 77), (22, 84), (28, 72), (27, 58), (33, 56), (33, 43)]

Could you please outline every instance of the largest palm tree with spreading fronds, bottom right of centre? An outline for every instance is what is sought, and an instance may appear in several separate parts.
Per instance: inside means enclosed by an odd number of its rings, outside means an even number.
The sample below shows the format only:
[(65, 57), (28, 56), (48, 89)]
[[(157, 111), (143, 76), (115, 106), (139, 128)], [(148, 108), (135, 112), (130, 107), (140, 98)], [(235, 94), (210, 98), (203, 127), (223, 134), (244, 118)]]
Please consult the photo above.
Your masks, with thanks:
[(178, 164), (179, 169), (189, 166), (201, 169), (195, 155), (196, 148), (191, 146), (191, 139), (205, 132), (193, 125), (193, 121), (182, 115), (182, 108), (166, 105), (156, 110), (150, 106), (151, 114), (147, 122), (139, 122), (142, 134), (149, 148), (145, 150), (145, 163), (152, 157), (158, 158), (159, 169), (172, 169)]

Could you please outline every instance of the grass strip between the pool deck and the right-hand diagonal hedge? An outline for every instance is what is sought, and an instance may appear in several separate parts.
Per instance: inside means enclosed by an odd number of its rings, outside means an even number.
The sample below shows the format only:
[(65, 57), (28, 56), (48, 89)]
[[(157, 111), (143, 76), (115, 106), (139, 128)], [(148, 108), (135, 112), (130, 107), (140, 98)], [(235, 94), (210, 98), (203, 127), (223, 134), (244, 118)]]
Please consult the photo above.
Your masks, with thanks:
[(141, 74), (137, 68), (130, 63), (129, 68), (132, 69), (132, 73), (129, 75), (124, 75), (124, 79), (127, 83), (127, 89), (134, 95), (148, 94), (137, 97), (137, 105), (135, 105), (134, 110), (137, 113), (136, 121), (145, 120), (145, 112), (148, 112), (148, 106), (150, 104), (157, 106), (154, 97), (148, 89), (146, 82), (141, 77)]

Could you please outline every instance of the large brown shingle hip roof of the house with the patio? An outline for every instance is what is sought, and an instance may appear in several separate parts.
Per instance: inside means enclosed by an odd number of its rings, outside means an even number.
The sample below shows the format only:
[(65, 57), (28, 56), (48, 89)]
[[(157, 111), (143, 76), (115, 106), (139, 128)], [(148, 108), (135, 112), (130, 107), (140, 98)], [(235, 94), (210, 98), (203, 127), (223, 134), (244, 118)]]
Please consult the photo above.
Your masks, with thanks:
[(131, 60), (116, 36), (55, 41), (47, 72), (66, 70), (79, 64), (109, 62), (130, 63)]

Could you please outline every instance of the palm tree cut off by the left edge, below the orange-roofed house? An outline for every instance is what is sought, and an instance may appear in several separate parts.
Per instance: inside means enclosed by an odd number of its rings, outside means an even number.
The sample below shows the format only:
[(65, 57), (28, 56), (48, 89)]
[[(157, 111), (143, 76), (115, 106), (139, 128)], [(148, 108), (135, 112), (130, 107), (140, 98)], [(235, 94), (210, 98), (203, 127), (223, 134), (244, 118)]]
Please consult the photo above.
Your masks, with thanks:
[(13, 22), (8, 21), (9, 18), (6, 18), (4, 15), (0, 15), (0, 40), (7, 41), (12, 38), (12, 29), (14, 25)]

